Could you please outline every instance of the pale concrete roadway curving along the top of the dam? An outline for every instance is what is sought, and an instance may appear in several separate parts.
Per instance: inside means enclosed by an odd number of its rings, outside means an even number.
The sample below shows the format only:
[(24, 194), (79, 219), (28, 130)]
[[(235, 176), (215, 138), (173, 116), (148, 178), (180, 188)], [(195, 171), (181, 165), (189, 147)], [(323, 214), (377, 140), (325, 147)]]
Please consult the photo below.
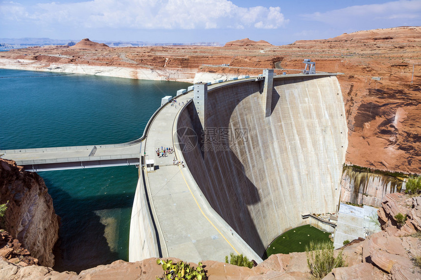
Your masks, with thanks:
[[(177, 98), (177, 102), (186, 104), (192, 97), (190, 92)], [(163, 108), (145, 140), (146, 160), (153, 159), (156, 166), (155, 171), (147, 172), (146, 184), (163, 257), (197, 263), (207, 259), (224, 261), (230, 253), (242, 253), (260, 262), (253, 250), (211, 209), (188, 168), (173, 165), (174, 156), (181, 159), (181, 153), (157, 156), (157, 148), (176, 148), (173, 126), (180, 108), (179, 105)]]

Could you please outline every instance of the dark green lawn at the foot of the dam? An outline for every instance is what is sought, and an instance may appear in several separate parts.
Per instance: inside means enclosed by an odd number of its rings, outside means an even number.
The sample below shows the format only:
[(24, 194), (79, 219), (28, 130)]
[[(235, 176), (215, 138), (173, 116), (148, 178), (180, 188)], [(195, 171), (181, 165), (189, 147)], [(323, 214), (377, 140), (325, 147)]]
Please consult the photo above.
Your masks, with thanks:
[(330, 233), (321, 231), (311, 225), (293, 228), (272, 241), (266, 249), (263, 259), (269, 258), (273, 254), (304, 252), (305, 246), (308, 246), (311, 240), (315, 242), (331, 242), (329, 235)]

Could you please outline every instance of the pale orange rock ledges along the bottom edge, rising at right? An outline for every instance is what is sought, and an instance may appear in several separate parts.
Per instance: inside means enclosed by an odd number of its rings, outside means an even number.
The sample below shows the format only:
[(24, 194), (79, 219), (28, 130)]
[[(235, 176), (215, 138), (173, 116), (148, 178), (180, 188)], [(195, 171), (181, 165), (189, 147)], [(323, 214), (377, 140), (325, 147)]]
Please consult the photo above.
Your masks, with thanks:
[[(407, 215), (403, 225), (399, 225), (394, 218), (398, 213)], [(365, 240), (354, 240), (342, 248), (348, 266), (333, 269), (325, 280), (421, 279), (421, 268), (414, 264), (414, 258), (421, 256), (421, 196), (410, 197), (399, 193), (386, 195), (379, 210), (379, 221), (383, 229), (381, 232)], [(4, 250), (3, 247), (0, 252)], [(171, 259), (178, 261), (177, 258)], [(14, 264), (13, 259), (0, 258), (0, 279), (149, 280), (163, 274), (156, 260), (149, 258), (134, 263), (117, 260), (76, 274), (59, 273), (44, 266)], [(272, 255), (252, 269), (211, 260), (203, 261), (203, 264), (209, 280), (311, 278), (305, 253)]]

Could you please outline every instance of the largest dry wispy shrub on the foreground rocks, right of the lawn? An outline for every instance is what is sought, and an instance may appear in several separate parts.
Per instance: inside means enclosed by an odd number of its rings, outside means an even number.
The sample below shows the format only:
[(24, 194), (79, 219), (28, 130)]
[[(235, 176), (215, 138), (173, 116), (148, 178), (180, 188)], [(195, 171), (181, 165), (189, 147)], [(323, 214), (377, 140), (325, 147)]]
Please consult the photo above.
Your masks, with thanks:
[(310, 273), (316, 279), (324, 278), (333, 268), (347, 266), (342, 251), (339, 251), (335, 258), (332, 242), (316, 243), (310, 241), (310, 245), (305, 247), (305, 254), (307, 255)]

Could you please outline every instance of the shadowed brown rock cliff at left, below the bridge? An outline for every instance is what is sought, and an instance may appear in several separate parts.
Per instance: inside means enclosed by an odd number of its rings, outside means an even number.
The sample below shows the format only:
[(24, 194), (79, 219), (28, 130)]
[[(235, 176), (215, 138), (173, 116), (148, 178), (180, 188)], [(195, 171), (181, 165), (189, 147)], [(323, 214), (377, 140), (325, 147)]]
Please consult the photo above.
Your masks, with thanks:
[(58, 239), (58, 216), (44, 180), (14, 161), (0, 158), (0, 203), (7, 204), (6, 229), (39, 263), (52, 267)]

